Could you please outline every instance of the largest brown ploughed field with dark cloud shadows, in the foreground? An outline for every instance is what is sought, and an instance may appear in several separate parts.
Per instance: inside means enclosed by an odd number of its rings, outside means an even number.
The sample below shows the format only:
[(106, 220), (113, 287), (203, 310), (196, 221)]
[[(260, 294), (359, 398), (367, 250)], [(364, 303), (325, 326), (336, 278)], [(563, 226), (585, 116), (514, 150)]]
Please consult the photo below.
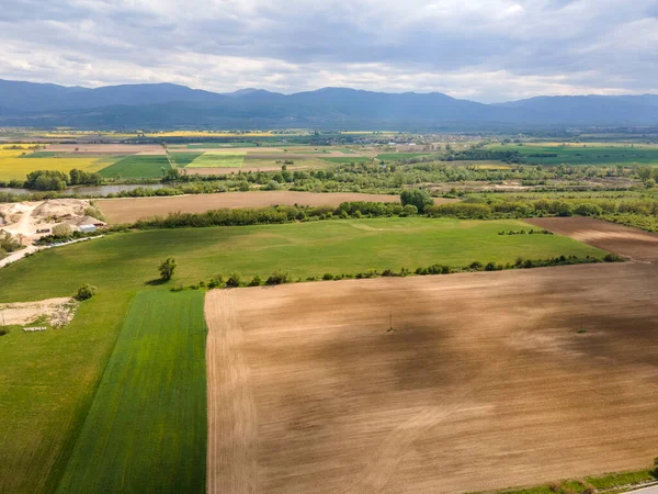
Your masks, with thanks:
[(657, 274), (628, 262), (211, 291), (208, 492), (458, 493), (645, 468)]

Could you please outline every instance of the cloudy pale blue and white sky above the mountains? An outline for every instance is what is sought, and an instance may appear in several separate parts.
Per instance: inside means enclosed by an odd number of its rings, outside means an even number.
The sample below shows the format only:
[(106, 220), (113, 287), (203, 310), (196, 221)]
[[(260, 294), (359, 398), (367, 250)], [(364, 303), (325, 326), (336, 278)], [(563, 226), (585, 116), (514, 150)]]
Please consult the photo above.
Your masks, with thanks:
[(658, 93), (658, 0), (0, 0), (0, 78), (487, 103)]

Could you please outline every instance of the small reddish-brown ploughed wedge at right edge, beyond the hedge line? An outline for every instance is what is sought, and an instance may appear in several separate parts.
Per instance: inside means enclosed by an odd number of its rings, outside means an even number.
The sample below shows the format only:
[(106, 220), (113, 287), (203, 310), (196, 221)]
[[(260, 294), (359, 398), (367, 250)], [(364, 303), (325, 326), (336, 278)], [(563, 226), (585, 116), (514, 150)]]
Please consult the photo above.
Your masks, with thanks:
[(658, 235), (591, 217), (535, 217), (533, 225), (637, 262), (658, 261)]

